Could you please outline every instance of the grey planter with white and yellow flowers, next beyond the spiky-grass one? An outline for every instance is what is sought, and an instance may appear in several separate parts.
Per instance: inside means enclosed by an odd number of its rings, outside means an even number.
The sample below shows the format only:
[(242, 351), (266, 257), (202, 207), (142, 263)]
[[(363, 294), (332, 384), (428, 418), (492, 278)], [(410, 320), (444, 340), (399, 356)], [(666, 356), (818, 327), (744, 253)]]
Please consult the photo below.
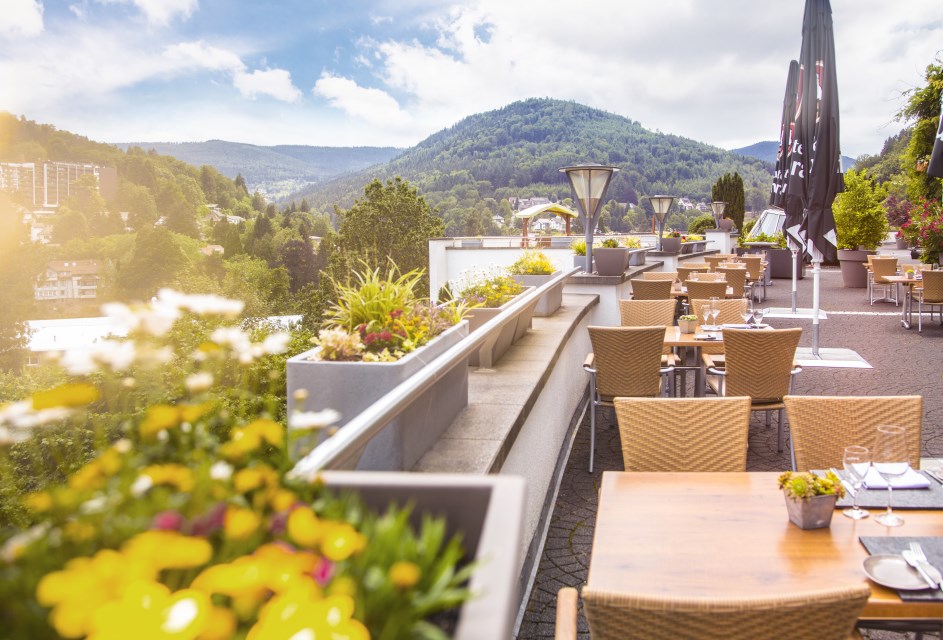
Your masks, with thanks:
[[(525, 287), (497, 268), (464, 274), (461, 279), (450, 282), (450, 287), (459, 292), (457, 300), (466, 307), (469, 333), (481, 329), (486, 322), (510, 306), (514, 298), (533, 288)], [(515, 319), (501, 327), (491, 340), (485, 342), (478, 353), (469, 358), (469, 366), (490, 368), (496, 363), (530, 329), (537, 302), (534, 300)]]

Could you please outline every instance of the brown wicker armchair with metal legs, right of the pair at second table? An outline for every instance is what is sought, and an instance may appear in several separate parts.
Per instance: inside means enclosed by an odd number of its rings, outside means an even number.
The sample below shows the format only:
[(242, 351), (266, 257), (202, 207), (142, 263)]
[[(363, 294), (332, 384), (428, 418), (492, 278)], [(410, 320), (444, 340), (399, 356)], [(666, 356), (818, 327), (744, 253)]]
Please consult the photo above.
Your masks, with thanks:
[[(792, 376), (802, 371), (794, 364), (802, 329), (724, 330), (724, 368), (705, 355), (707, 383), (719, 396), (750, 396), (751, 411), (766, 412), (770, 426), (778, 412), (777, 449), (783, 450), (783, 397), (789, 395)], [(713, 376), (713, 377), (711, 377)]]

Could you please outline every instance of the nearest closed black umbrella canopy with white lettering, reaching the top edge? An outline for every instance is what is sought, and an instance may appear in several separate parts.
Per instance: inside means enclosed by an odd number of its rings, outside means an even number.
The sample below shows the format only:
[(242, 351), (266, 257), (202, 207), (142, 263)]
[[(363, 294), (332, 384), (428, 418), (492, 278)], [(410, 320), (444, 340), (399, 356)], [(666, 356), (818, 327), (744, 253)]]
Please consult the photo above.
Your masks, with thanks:
[(829, 0), (806, 0), (798, 93), (786, 195), (802, 203), (806, 251), (829, 262), (836, 258), (837, 245), (832, 202), (844, 190)]

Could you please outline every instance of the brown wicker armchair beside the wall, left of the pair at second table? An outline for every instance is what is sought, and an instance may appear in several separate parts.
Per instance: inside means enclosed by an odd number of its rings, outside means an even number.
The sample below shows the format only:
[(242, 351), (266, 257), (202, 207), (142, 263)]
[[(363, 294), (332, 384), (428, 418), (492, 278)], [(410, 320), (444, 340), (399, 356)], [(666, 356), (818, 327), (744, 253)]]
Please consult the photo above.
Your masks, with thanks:
[(589, 472), (596, 451), (596, 407), (612, 407), (616, 397), (654, 398), (674, 367), (661, 366), (665, 327), (589, 327), (593, 352), (583, 368), (590, 374)]

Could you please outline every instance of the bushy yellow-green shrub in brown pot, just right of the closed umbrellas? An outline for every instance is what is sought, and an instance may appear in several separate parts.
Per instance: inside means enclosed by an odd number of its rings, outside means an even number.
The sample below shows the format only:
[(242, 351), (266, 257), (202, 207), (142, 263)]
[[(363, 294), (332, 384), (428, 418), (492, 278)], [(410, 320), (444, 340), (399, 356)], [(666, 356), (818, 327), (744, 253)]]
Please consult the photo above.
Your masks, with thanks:
[(883, 187), (872, 184), (864, 174), (854, 170), (845, 173), (845, 191), (835, 198), (832, 213), (846, 287), (868, 286), (868, 255), (877, 253), (887, 237), (887, 215), (881, 206), (886, 195)]

